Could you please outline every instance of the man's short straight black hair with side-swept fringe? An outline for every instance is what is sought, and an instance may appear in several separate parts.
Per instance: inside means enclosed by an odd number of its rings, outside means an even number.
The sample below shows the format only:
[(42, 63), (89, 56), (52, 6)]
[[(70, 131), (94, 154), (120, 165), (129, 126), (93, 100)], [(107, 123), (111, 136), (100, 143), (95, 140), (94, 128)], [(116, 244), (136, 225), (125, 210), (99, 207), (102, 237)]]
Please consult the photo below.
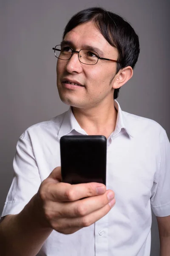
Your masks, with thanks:
[[(120, 69), (130, 66), (135, 67), (138, 60), (140, 47), (139, 37), (132, 26), (121, 16), (108, 12), (100, 7), (91, 7), (75, 14), (65, 26), (62, 38), (76, 26), (94, 21), (104, 38), (118, 50), (116, 73)], [(119, 96), (119, 89), (114, 90), (114, 99)]]

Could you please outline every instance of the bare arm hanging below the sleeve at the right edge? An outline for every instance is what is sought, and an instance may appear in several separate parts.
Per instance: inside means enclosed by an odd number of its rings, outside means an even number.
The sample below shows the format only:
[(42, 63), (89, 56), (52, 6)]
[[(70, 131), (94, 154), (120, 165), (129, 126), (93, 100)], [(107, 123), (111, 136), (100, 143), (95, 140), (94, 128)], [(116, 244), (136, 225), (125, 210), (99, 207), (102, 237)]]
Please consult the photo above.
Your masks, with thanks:
[(170, 256), (170, 216), (156, 218), (159, 228), (160, 256)]

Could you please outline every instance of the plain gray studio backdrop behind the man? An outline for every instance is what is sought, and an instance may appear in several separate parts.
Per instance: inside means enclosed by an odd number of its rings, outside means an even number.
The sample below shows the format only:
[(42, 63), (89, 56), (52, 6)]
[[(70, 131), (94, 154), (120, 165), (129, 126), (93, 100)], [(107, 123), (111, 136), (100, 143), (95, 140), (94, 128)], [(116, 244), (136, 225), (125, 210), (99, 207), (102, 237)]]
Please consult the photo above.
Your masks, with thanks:
[[(141, 52), (133, 78), (119, 96), (123, 110), (154, 119), (170, 138), (169, 0), (0, 1), (0, 212), (11, 184), (20, 134), (68, 109), (58, 96), (56, 58), (68, 19), (102, 6), (125, 17), (139, 34)], [(151, 255), (159, 255), (153, 216)]]

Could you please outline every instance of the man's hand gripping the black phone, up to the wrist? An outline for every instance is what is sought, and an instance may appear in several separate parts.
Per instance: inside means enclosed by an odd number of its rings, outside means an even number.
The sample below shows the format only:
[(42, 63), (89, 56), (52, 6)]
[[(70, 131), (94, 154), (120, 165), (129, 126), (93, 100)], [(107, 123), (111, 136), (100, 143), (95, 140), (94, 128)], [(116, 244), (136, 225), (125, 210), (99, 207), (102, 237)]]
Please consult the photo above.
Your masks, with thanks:
[(60, 167), (41, 183), (37, 199), (42, 223), (63, 234), (90, 226), (115, 204), (114, 192), (101, 183), (62, 183)]

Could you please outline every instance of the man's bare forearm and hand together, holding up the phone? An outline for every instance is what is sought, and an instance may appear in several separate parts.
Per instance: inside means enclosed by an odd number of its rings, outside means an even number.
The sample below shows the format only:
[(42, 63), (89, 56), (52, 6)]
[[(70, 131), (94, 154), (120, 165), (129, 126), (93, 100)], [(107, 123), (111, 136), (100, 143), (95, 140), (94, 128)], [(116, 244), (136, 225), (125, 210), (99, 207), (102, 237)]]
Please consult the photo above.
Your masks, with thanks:
[[(51, 172), (24, 209), (0, 223), (0, 256), (35, 256), (52, 230), (71, 234), (106, 215), (114, 193), (99, 183), (59, 182), (60, 167)], [(83, 198), (82, 200), (79, 200)]]

